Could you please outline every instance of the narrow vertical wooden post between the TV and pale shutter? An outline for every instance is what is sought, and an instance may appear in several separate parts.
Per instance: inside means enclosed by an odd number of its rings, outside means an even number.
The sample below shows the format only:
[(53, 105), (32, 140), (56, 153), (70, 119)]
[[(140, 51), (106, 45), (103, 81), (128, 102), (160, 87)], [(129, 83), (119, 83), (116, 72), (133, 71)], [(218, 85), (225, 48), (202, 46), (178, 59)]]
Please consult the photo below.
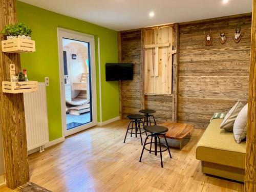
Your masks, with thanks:
[(141, 84), (141, 93), (140, 93), (140, 103), (141, 109), (145, 109), (145, 94), (144, 94), (144, 33), (145, 29), (140, 30), (140, 84)]

